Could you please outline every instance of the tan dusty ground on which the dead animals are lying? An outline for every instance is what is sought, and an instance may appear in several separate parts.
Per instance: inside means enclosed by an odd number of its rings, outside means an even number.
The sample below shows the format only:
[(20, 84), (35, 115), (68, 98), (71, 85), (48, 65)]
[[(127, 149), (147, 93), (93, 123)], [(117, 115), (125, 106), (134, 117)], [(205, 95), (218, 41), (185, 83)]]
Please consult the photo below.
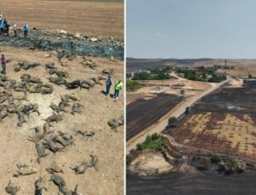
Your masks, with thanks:
[[(123, 79), (123, 61), (113, 62), (103, 58), (92, 58), (98, 65), (96, 70), (86, 68), (80, 64), (82, 58), (77, 56), (75, 60), (69, 61), (68, 66), (61, 66), (55, 55), (44, 59), (46, 53), (41, 51), (30, 51), (27, 49), (1, 48), (11, 62), (7, 65), (7, 76), (20, 80), (20, 75), (28, 73), (34, 77), (40, 77), (42, 81), (48, 83), (49, 74), (45, 70), (46, 62), (55, 62), (55, 66), (60, 70), (69, 72), (67, 80), (76, 78), (90, 78), (101, 75), (102, 69), (113, 68), (113, 80)], [(38, 62), (40, 66), (28, 71), (21, 70), (14, 72), (14, 66), (18, 61)], [(39, 104), (39, 111), (42, 115), (38, 117), (32, 113), (30, 118), (26, 118), (28, 123), (24, 123), (21, 128), (16, 126), (18, 122), (17, 115), (11, 115), (4, 118), (0, 123), (1, 136), (1, 170), (0, 170), (0, 194), (5, 194), (4, 187), (9, 180), (20, 186), (18, 194), (33, 194), (34, 182), (39, 176), (42, 176), (48, 192), (44, 194), (57, 194), (58, 189), (55, 184), (49, 182), (50, 175), (46, 168), (52, 162), (64, 163), (65, 173), (60, 174), (67, 183), (68, 189), (73, 189), (79, 185), (79, 192), (83, 194), (123, 194), (124, 181), (124, 153), (123, 153), (123, 128), (118, 132), (108, 127), (108, 120), (119, 118), (123, 115), (124, 95), (120, 95), (119, 100), (113, 100), (110, 97), (102, 95), (104, 86), (96, 85), (93, 89), (73, 89), (66, 90), (63, 86), (54, 85), (52, 95), (28, 95), (28, 100)], [(113, 93), (113, 90), (111, 91)], [(37, 153), (34, 143), (27, 140), (28, 135), (32, 134), (30, 128), (44, 123), (42, 119), (51, 115), (49, 105), (51, 102), (58, 102), (60, 95), (77, 95), (80, 103), (84, 105), (82, 114), (66, 113), (64, 120), (55, 123), (55, 131), (63, 131), (73, 135), (75, 146), (67, 146), (64, 152), (57, 152), (55, 155), (49, 152), (49, 156), (42, 159), (41, 163), (36, 162)], [(27, 104), (27, 102), (23, 102)], [(76, 129), (95, 130), (96, 135), (89, 139), (79, 135), (74, 135)], [(74, 175), (69, 168), (71, 164), (78, 164), (83, 161), (90, 162), (90, 154), (95, 154), (99, 159), (98, 168), (87, 169), (84, 175)], [(35, 175), (13, 177), (16, 172), (17, 163), (30, 163), (33, 161), (38, 173)]]

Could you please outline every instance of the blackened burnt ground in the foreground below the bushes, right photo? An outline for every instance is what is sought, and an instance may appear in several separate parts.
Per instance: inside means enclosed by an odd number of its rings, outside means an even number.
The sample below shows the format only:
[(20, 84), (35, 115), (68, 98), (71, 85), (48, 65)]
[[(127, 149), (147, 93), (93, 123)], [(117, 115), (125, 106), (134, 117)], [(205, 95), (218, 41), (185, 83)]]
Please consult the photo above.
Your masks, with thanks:
[(143, 179), (127, 173), (127, 195), (228, 195), (255, 194), (254, 173), (242, 175), (219, 175), (216, 172), (195, 174), (173, 173), (157, 178)]

